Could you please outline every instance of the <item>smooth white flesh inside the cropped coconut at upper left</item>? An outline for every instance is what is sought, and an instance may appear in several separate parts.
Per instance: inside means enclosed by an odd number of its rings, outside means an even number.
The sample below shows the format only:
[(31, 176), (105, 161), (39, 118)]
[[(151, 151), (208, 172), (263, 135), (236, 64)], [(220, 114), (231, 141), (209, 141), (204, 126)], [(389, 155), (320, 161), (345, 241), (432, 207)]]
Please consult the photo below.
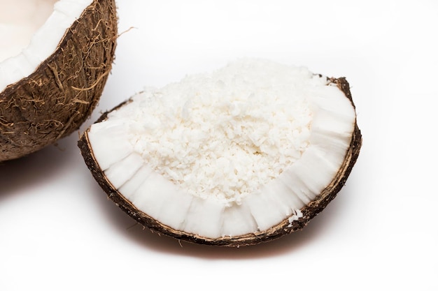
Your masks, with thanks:
[(0, 92), (34, 72), (92, 0), (0, 0)]

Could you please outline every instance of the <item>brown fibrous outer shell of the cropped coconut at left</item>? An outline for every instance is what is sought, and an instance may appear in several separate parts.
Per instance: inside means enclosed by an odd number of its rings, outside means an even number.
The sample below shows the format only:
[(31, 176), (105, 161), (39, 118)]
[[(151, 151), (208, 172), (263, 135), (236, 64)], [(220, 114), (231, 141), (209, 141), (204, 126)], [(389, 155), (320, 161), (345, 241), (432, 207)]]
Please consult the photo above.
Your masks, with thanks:
[(118, 36), (114, 0), (94, 0), (38, 68), (0, 92), (0, 162), (78, 130), (96, 107)]

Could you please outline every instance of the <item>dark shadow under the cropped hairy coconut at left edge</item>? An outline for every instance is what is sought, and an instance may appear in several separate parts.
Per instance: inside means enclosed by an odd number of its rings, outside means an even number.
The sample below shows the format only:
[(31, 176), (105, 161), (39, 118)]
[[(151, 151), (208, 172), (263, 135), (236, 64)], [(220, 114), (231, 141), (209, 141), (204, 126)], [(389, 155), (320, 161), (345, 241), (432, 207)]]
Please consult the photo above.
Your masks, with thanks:
[(57, 144), (49, 145), (28, 156), (0, 163), (0, 202), (9, 195), (23, 193), (48, 179), (55, 179), (63, 169), (71, 166), (71, 154), (76, 146), (76, 135), (64, 137)]

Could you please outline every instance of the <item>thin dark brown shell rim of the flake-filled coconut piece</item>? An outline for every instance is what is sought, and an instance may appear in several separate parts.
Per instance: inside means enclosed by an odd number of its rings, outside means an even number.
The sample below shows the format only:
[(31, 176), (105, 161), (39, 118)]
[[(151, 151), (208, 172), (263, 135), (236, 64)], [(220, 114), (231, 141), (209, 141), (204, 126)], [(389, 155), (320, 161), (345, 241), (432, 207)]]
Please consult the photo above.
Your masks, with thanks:
[[(353, 99), (351, 98), (350, 87), (348, 82), (344, 77), (339, 79), (331, 78), (330, 82), (337, 84), (337, 87), (341, 91), (344, 92), (346, 98), (351, 100), (353, 107), (355, 106), (353, 103)], [(126, 101), (125, 103), (128, 103)], [(125, 105), (122, 103), (115, 107), (113, 110), (118, 109), (120, 106)], [(112, 111), (112, 110), (111, 110)], [(101, 122), (104, 121), (107, 117), (108, 112), (102, 114), (102, 116), (96, 121)], [(351, 137), (350, 147), (346, 153), (344, 158), (344, 163), (341, 165), (336, 177), (332, 180), (330, 185), (325, 188), (315, 200), (307, 204), (305, 207), (300, 209), (302, 211), (302, 217), (298, 218), (292, 223), (289, 222), (289, 219), (286, 218), (278, 225), (273, 225), (269, 230), (265, 230), (262, 232), (255, 232), (246, 235), (241, 235), (239, 237), (222, 237), (218, 239), (209, 239), (206, 237), (199, 237), (195, 234), (190, 234), (187, 232), (182, 232), (180, 230), (174, 230), (167, 225), (163, 225), (160, 221), (155, 221), (152, 217), (143, 213), (139, 209), (136, 209), (134, 205), (129, 202), (122, 194), (120, 194), (117, 189), (113, 187), (111, 181), (106, 179), (104, 172), (100, 169), (99, 164), (93, 156), (92, 147), (87, 137), (87, 131), (81, 135), (80, 140), (78, 141), (78, 147), (80, 148), (81, 154), (83, 155), (84, 161), (87, 167), (92, 172), (94, 179), (99, 183), (101, 188), (106, 192), (108, 197), (115, 202), (115, 204), (120, 207), (125, 213), (134, 218), (138, 223), (148, 227), (153, 232), (157, 232), (160, 234), (169, 235), (176, 239), (182, 241), (188, 241), (196, 244), (206, 244), (213, 246), (229, 246), (229, 247), (240, 247), (240, 246), (249, 246), (254, 244), (260, 244), (262, 242), (271, 241), (274, 239), (278, 239), (283, 237), (285, 234), (290, 234), (296, 230), (301, 230), (311, 218), (315, 217), (323, 211), (323, 209), (327, 206), (336, 197), (337, 193), (341, 190), (341, 188), (346, 183), (348, 175), (351, 173), (353, 169), (353, 165), (355, 165), (356, 160), (358, 159), (360, 147), (362, 145), (362, 135), (360, 133), (360, 129), (358, 125), (355, 124), (355, 128), (353, 131), (353, 135)]]

